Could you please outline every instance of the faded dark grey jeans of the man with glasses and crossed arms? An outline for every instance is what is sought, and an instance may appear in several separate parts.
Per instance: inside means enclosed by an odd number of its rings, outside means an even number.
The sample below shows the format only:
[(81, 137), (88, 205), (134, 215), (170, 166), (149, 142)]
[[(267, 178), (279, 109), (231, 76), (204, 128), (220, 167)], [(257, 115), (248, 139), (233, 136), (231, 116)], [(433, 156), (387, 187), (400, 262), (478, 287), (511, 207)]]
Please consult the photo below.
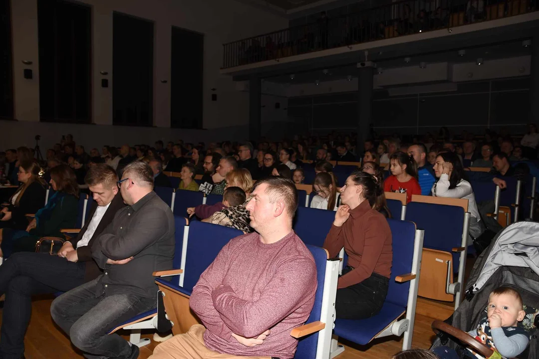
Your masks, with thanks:
[(67, 333), (73, 345), (86, 358), (127, 357), (129, 343), (118, 334), (107, 333), (114, 327), (157, 306), (155, 298), (134, 294), (96, 295), (94, 279), (60, 295), (52, 302), (52, 319)]

